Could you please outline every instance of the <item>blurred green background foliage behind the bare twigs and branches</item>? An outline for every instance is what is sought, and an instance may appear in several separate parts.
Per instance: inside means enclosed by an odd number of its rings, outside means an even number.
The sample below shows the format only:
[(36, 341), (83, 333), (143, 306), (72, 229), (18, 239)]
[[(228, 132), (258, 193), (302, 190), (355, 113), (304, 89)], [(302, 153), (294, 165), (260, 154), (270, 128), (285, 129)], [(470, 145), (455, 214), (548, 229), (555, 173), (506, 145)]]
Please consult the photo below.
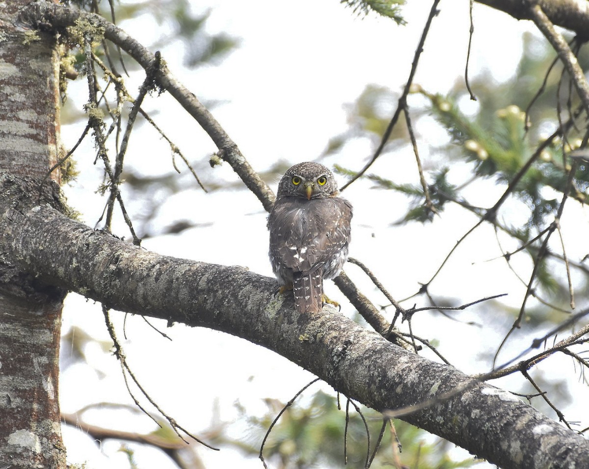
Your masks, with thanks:
[[(206, 22), (209, 12), (195, 14), (188, 0), (146, 0), (134, 4), (121, 4), (105, 1), (84, 0), (67, 2), (76, 4), (80, 8), (111, 17), (111, 9), (117, 23), (126, 19), (138, 18), (141, 15), (150, 15), (158, 24), (170, 26), (170, 33), (166, 37), (154, 38), (150, 48), (157, 49), (159, 45), (166, 44), (170, 40), (180, 39), (184, 45), (184, 63), (187, 67), (199, 67), (202, 65), (219, 64), (236, 47), (239, 47), (239, 38), (227, 34), (209, 34), (206, 32)], [(396, 23), (403, 24), (404, 19), (400, 15), (400, 1), (395, 2), (356, 2), (345, 1), (346, 4), (358, 14), (366, 14), (370, 9), (378, 14), (391, 17)], [(107, 62), (112, 71), (117, 75), (124, 75), (125, 69), (133, 71), (137, 65), (132, 60), (111, 45), (95, 44), (95, 53)], [(70, 51), (75, 70), (82, 73), (83, 54), (76, 49)], [(524, 35), (524, 54), (521, 57), (514, 77), (505, 82), (489, 80), (484, 74), (471, 78), (471, 88), (477, 97), (476, 111), (464, 111), (465, 101), (469, 100), (464, 82), (457, 81), (453, 90), (447, 95), (428, 93), (418, 84), (412, 88), (409, 96), (414, 128), (419, 128), (419, 120), (434, 117), (438, 124), (444, 128), (449, 136), (449, 143), (436, 146), (428, 142), (428, 151), (434, 158), (438, 158), (443, 164), (436, 164), (426, 171), (426, 180), (431, 194), (432, 202), (438, 214), (442, 214), (448, 203), (456, 203), (482, 216), (489, 207), (477, 207), (469, 202), (465, 195), (465, 189), (476, 184), (479, 179), (492, 179), (498, 184), (507, 184), (515, 174), (521, 170), (525, 162), (534, 153), (535, 149), (548, 135), (558, 127), (557, 100), (558, 94), (566, 95), (569, 85), (567, 78), (561, 81), (561, 65), (557, 64), (548, 75), (544, 92), (538, 96), (534, 105), (528, 110), (534, 95), (542, 87), (542, 82), (547, 71), (554, 61), (555, 54), (545, 41), (540, 41), (532, 35)], [(584, 69), (589, 67), (589, 54), (586, 49), (578, 55), (580, 64)], [(558, 88), (560, 87), (560, 90)], [(557, 91), (558, 90), (558, 91)], [(343, 133), (333, 136), (326, 143), (323, 154), (317, 158), (336, 156), (346, 145), (356, 139), (368, 140), (376, 148), (380, 138), (389, 124), (392, 111), (398, 100), (398, 90), (366, 85), (365, 90), (355, 102), (347, 107), (348, 128)], [(413, 100), (415, 99), (415, 104)], [(205, 97), (206, 99), (206, 97)], [(207, 103), (214, 105), (214, 103)], [(569, 104), (570, 108), (577, 106), (575, 98)], [(67, 111), (70, 109), (70, 114)], [(85, 114), (71, 111), (66, 108), (64, 120), (79, 120)], [(470, 109), (470, 108), (469, 108)], [(104, 113), (110, 109), (104, 104)], [(561, 119), (568, 118), (566, 107), (561, 110)], [(529, 128), (526, 122), (528, 121)], [(555, 139), (540, 157), (527, 171), (521, 181), (515, 187), (510, 198), (518, 199), (525, 204), (528, 213), (524, 223), (519, 225), (505, 225), (504, 230), (509, 236), (519, 240), (525, 245), (525, 250), (532, 259), (538, 254), (538, 243), (527, 244), (552, 222), (555, 208), (562, 197), (562, 190), (567, 180), (567, 159), (563, 156), (571, 149), (577, 148), (581, 143), (583, 133), (577, 128), (571, 128), (568, 139)], [(395, 151), (402, 150), (409, 144), (408, 130), (404, 121), (393, 129), (391, 138), (386, 144), (381, 158), (388, 157)], [(422, 143), (419, 143), (422, 144)], [(411, 150), (405, 150), (411, 151)], [(195, 166), (209, 164), (210, 155), (203, 154), (200, 159), (191, 161)], [(453, 167), (456, 163), (468, 164), (469, 174), (461, 181), (456, 181)], [(214, 161), (211, 161), (213, 166)], [(286, 169), (283, 162), (277, 162), (267, 173), (262, 174), (264, 180), (274, 180)], [(335, 167), (337, 173), (351, 177), (355, 170), (350, 168)], [(415, 183), (399, 183), (389, 179), (385, 174), (366, 174), (364, 177), (372, 181), (375, 190), (396, 191), (408, 199), (408, 210), (401, 220), (391, 220), (391, 223), (403, 224), (411, 222), (428, 223), (435, 216), (434, 212), (425, 205), (425, 195), (419, 184), (417, 174)], [(195, 182), (188, 175), (178, 177), (170, 171), (167, 174), (156, 176), (141, 176), (133, 169), (127, 169), (124, 173), (125, 183), (130, 188), (133, 199), (139, 200), (143, 207), (136, 217), (139, 226), (138, 233), (142, 237), (151, 236), (148, 224), (157, 212), (157, 197), (153, 197), (154, 191), (163, 191), (163, 197), (169, 197), (174, 193), (193, 187)], [(570, 194), (579, 202), (584, 203), (589, 187), (589, 165), (581, 163), (575, 173), (576, 186)], [(207, 181), (207, 190), (227, 189), (214, 179)], [(241, 189), (241, 184), (236, 183), (235, 189)], [(163, 233), (178, 233), (188, 227), (194, 226), (193, 222), (177, 220), (170, 224)], [(582, 267), (582, 266), (581, 266)], [(568, 299), (568, 288), (562, 278), (551, 274), (550, 265), (542, 261), (538, 273), (540, 287), (550, 292), (551, 298), (557, 303), (565, 303)], [(552, 318), (550, 308), (537, 306), (530, 308), (528, 317), (531, 321), (541, 323)], [(510, 315), (517, 315), (517, 311), (507, 311)], [(75, 362), (84, 362), (84, 346), (94, 341), (91, 336), (78, 331), (69, 333), (62, 338), (62, 349), (75, 351), (68, 362), (62, 366), (67, 367)], [(104, 344), (100, 344), (102, 348)], [(105, 353), (107, 351), (105, 350)], [(537, 381), (543, 389), (549, 392), (558, 392), (559, 384), (552, 381), (542, 381), (541, 376)], [(527, 389), (531, 392), (530, 389)], [(562, 394), (560, 392), (559, 394)], [(562, 396), (564, 399), (565, 397)], [(267, 413), (262, 417), (254, 417), (247, 414), (247, 409), (241, 409), (241, 417), (233, 424), (243, 425), (246, 430), (246, 438), (230, 436), (230, 432), (217, 430), (214, 432), (215, 444), (230, 445), (239, 448), (245, 455), (256, 456), (260, 451), (262, 438), (284, 403), (272, 398), (266, 399)], [(370, 428), (370, 441), (372, 452), (374, 442), (378, 437), (382, 419), (378, 412), (362, 408), (366, 421)], [(455, 461), (449, 456), (452, 445), (432, 435), (426, 434), (418, 428), (412, 427), (402, 421), (395, 421), (398, 440), (402, 445), (402, 452), (396, 453), (391, 431), (387, 428), (373, 462), (373, 468), (384, 467), (419, 467), (420, 469), (450, 469), (455, 467), (469, 467), (475, 464), (475, 458), (463, 461)], [(344, 431), (345, 411), (338, 408), (335, 395), (316, 392), (307, 399), (304, 406), (294, 405), (287, 409), (266, 442), (264, 455), (266, 460), (276, 468), (315, 468), (315, 467), (343, 467), (344, 455)], [(175, 438), (171, 433), (170, 438)], [(366, 432), (362, 419), (350, 407), (350, 418), (347, 437), (347, 458), (349, 467), (362, 467), (366, 457)], [(398, 465), (400, 461), (401, 465)], [(131, 463), (130, 463), (131, 464)]]

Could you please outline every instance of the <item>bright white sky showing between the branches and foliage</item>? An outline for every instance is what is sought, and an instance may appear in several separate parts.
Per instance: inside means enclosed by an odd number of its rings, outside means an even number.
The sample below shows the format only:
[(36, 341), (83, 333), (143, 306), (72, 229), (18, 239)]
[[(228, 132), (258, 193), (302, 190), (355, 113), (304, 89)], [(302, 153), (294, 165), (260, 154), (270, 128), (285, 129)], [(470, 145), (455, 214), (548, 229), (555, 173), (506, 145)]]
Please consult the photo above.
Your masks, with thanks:
[[(294, 164), (319, 156), (329, 138), (346, 129), (343, 105), (352, 103), (366, 84), (386, 85), (399, 93), (408, 76), (429, 6), (429, 2), (409, 2), (403, 9), (409, 24), (398, 27), (392, 21), (374, 16), (357, 18), (337, 0), (194, 2), (195, 9), (212, 8), (207, 22), (210, 32), (225, 31), (239, 37), (240, 47), (219, 67), (196, 71), (182, 67), (181, 45), (171, 44), (162, 49), (162, 54), (174, 74), (198, 97), (221, 101), (214, 107), (213, 114), (254, 169), (263, 171), (279, 159)], [(519, 60), (521, 34), (531, 30), (531, 25), (481, 5), (475, 5), (474, 14), (471, 74), (485, 73), (491, 79), (505, 80), (511, 76)], [(150, 18), (142, 17), (141, 21), (125, 22), (123, 28), (148, 45), (158, 26)], [(445, 93), (456, 80), (463, 80), (468, 28), (467, 0), (441, 3), (441, 13), (434, 19), (425, 44), (416, 83), (432, 93)], [(136, 90), (142, 80), (141, 76), (132, 77), (128, 89)], [(84, 81), (70, 85), (70, 104), (80, 106), (84, 103), (86, 86)], [(150, 98), (144, 108), (154, 114), (158, 125), (190, 160), (202, 158), (199, 169), (204, 180), (217, 178), (228, 183), (237, 180), (226, 164), (214, 170), (209, 168), (207, 155), (215, 151), (213, 144), (169, 95)], [(141, 134), (135, 133), (132, 137), (127, 163), (141, 167), (145, 174), (171, 171), (170, 151), (166, 144), (152, 136), (147, 125), (140, 130)], [(447, 138), (431, 126), (425, 131), (417, 128), (417, 131), (423, 142), (444, 143), (442, 139)], [(64, 125), (62, 135), (67, 148), (75, 143), (80, 132), (79, 124)], [(337, 158), (337, 163), (360, 169), (370, 150), (365, 143), (352, 144)], [(427, 158), (425, 148), (423, 151)], [(70, 203), (82, 212), (85, 222), (91, 226), (100, 216), (104, 204), (94, 193), (99, 180), (98, 170), (91, 164), (93, 159), (92, 145), (87, 141), (85, 148), (77, 152), (78, 164), (83, 171), (79, 182), (67, 189)], [(333, 158), (327, 160), (327, 164), (333, 162)], [(381, 158), (373, 171), (393, 179), (418, 181), (415, 162), (408, 150)], [(500, 193), (491, 184), (488, 186), (482, 204), (496, 199)], [(370, 191), (369, 184), (363, 181), (350, 186), (345, 197), (355, 206), (350, 255), (371, 267), (395, 298), (414, 293), (419, 282), (428, 280), (456, 239), (474, 224), (474, 218), (451, 207), (434, 226), (410, 224), (392, 228), (389, 223), (406, 207), (406, 200), (402, 197)], [(204, 194), (195, 189), (160, 202), (157, 220), (161, 225), (178, 218), (214, 224), (207, 229), (187, 230), (179, 236), (145, 240), (145, 248), (205, 262), (243, 265), (263, 275), (272, 275), (267, 260), (266, 214), (252, 194), (246, 191)], [(379, 216), (382, 210), (386, 216)], [(578, 216), (583, 218), (579, 220)], [(566, 218), (563, 219), (563, 226), (567, 222)], [(580, 230), (587, 232), (584, 214), (575, 214), (574, 223), (580, 223)], [(121, 228), (119, 234), (126, 235), (126, 232)], [(501, 261), (482, 262), (500, 255), (494, 239), (488, 227), (481, 229), (481, 236), (469, 239), (449, 262), (444, 275), (432, 284), (432, 293), (438, 297), (457, 298), (458, 302), (469, 302), (510, 292), (513, 294), (507, 303), (518, 305), (522, 291), (514, 288), (517, 286), (514, 276), (506, 273)], [(582, 247), (574, 254), (582, 257)], [(515, 265), (522, 269), (529, 267), (529, 263), (518, 259), (515, 259)], [(384, 303), (357, 267), (348, 266), (346, 272), (376, 304)], [(528, 275), (525, 272), (524, 275)], [(333, 285), (327, 286), (327, 292), (335, 299), (340, 298)], [(342, 304), (344, 313), (353, 311), (344, 300)], [(458, 317), (484, 323), (484, 316), (477, 311)], [(113, 318), (121, 328), (122, 315), (113, 313)], [(165, 329), (163, 322), (153, 323)], [(71, 295), (67, 300), (64, 332), (74, 324), (108, 340), (100, 306)], [(505, 327), (508, 328), (508, 324)], [(473, 328), (439, 316), (432, 321), (431, 316), (425, 315), (415, 319), (413, 328), (421, 336), (438, 338), (442, 353), (465, 372), (485, 371), (482, 367), (489, 364), (487, 361), (481, 365), (476, 357), (465, 354), (465, 350), (472, 350), (475, 355), (481, 350), (481, 342), (495, 348), (507, 331)], [(230, 421), (236, 417), (234, 402), (239, 401), (250, 412), (262, 414), (266, 411), (263, 398), (286, 402), (313, 379), (309, 373), (272, 352), (219, 332), (183, 326), (174, 326), (165, 332), (173, 337), (173, 342), (160, 338), (140, 318), (128, 318), (129, 339), (125, 341), (125, 351), (142, 384), (161, 407), (197, 434), (209, 427), (215, 399), (219, 401), (221, 420)], [(456, 337), (461, 338), (460, 349), (453, 344)], [(528, 344), (509, 344), (506, 356), (509, 352), (519, 352)], [(88, 402), (130, 403), (116, 360), (98, 349), (89, 350), (88, 356), (90, 364), (104, 375), (87, 366), (68, 368), (62, 376), (60, 389), (63, 411), (74, 412)], [(570, 368), (570, 362), (566, 366)], [(92, 423), (112, 424), (110, 414), (108, 417), (92, 417), (97, 419)], [(578, 417), (575, 420), (584, 418), (586, 421), (587, 410), (585, 415)], [(132, 428), (145, 431), (144, 424), (145, 420), (140, 419), (140, 424)], [(71, 462), (88, 461), (88, 469), (128, 467), (125, 456), (117, 452), (118, 443), (108, 443), (105, 454), (101, 454), (92, 442), (75, 431), (66, 428), (64, 437)], [(261, 467), (257, 459), (244, 461), (239, 454), (225, 448), (220, 453), (203, 448), (200, 455), (207, 468)], [(142, 469), (174, 467), (166, 457), (154, 451), (141, 450), (136, 457)], [(458, 457), (468, 455), (461, 453)], [(478, 467), (490, 466), (481, 464)]]

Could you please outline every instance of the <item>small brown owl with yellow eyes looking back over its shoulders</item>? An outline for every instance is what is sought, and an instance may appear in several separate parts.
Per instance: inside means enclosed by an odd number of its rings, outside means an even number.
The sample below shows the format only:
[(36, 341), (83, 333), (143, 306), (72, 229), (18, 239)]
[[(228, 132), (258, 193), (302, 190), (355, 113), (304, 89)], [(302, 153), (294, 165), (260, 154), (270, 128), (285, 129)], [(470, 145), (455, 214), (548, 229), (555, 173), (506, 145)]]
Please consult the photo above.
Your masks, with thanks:
[(323, 279), (336, 277), (348, 259), (352, 205), (338, 197), (329, 169), (299, 163), (284, 173), (268, 217), (270, 263), (297, 311), (323, 306)]

